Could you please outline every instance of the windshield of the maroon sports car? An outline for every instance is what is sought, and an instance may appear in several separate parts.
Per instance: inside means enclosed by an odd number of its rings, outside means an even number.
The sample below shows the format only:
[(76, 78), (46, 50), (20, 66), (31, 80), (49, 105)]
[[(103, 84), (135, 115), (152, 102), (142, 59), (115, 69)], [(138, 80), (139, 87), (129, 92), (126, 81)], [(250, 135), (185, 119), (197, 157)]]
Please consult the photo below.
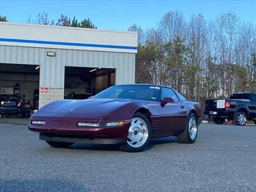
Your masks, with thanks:
[(150, 101), (160, 101), (160, 86), (126, 85), (111, 86), (96, 94), (93, 98), (130, 98)]

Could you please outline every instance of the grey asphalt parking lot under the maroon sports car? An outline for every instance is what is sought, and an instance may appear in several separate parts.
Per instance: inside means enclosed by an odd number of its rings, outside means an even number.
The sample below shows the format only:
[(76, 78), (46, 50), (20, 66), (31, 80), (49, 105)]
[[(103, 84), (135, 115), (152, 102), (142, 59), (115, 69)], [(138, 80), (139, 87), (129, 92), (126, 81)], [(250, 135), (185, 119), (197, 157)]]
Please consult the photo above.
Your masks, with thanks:
[(198, 140), (54, 149), (25, 125), (0, 124), (0, 191), (255, 191), (256, 126), (202, 124)]

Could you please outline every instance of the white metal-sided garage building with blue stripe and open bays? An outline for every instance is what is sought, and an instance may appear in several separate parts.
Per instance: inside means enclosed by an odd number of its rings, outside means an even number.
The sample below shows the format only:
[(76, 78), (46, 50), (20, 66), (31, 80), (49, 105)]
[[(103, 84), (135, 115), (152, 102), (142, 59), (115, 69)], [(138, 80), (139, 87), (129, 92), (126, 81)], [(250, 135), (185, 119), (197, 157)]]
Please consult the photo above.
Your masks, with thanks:
[(0, 22), (0, 91), (31, 106), (134, 83), (137, 33)]

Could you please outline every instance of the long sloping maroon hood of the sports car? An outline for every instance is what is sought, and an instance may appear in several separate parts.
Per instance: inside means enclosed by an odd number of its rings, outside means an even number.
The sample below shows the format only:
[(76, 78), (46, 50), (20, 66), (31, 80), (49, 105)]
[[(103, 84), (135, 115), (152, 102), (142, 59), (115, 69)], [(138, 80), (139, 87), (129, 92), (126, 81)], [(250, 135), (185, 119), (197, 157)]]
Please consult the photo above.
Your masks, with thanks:
[(134, 112), (134, 105), (130, 105), (131, 103), (134, 103), (134, 100), (66, 99), (50, 102), (38, 110), (32, 118), (131, 118)]

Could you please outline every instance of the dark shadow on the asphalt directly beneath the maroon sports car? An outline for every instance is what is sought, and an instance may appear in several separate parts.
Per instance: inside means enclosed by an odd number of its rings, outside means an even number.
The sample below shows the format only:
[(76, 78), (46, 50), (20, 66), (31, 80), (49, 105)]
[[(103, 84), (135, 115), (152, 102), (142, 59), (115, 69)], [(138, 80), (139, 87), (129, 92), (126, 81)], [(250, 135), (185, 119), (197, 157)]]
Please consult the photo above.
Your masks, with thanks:
[[(145, 150), (151, 150), (156, 145), (163, 145), (167, 143), (177, 142), (176, 137), (166, 137), (166, 138), (154, 138), (150, 141), (149, 145), (146, 146)], [(70, 146), (69, 149), (72, 150), (102, 150), (102, 151), (118, 151), (121, 150), (122, 145), (88, 145), (82, 143), (75, 143)]]

